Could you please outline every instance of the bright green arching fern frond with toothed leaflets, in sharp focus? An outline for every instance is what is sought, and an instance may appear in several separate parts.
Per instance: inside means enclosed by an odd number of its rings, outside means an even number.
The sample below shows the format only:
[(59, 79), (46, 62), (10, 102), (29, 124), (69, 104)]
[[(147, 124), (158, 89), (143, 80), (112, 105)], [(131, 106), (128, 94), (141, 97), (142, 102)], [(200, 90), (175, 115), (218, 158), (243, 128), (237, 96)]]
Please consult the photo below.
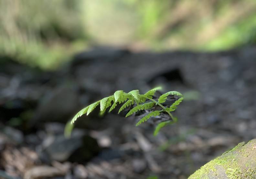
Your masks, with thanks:
[[(150, 113), (146, 114), (142, 119), (139, 120), (139, 122), (136, 124), (136, 126), (144, 123), (145, 121), (147, 121), (150, 117), (152, 116), (159, 116), (161, 113), (166, 112), (167, 114), (170, 115), (171, 119), (170, 121), (164, 121), (159, 123), (156, 126), (154, 135), (157, 135), (159, 130), (168, 125), (168, 124), (173, 124), (177, 121), (177, 118), (174, 117), (170, 112), (173, 112), (176, 110), (177, 105), (179, 105), (182, 100), (183, 100), (183, 95), (177, 91), (169, 91), (165, 94), (162, 94), (158, 100), (154, 100), (153, 96), (155, 94), (155, 92), (157, 90), (160, 90), (161, 87), (156, 87), (153, 88), (151, 90), (149, 90), (147, 93), (145, 94), (140, 94), (139, 90), (133, 90), (130, 91), (129, 93), (125, 93), (122, 90), (116, 91), (113, 95), (105, 97), (99, 101), (96, 101), (95, 103), (90, 104), (89, 106), (83, 108), (81, 111), (79, 111), (72, 119), (71, 124), (73, 124), (78, 117), (80, 117), (83, 114), (90, 114), (98, 105), (100, 105), (100, 114), (104, 114), (107, 110), (107, 108), (110, 107), (109, 112), (112, 111), (117, 104), (122, 104), (124, 103), (121, 108), (119, 109), (120, 113), (121, 111), (123, 111), (125, 108), (133, 105), (133, 104), (137, 104), (135, 107), (133, 107), (127, 114), (125, 117), (128, 117), (130, 115), (132, 115), (133, 113), (136, 113), (138, 111), (141, 110), (148, 110), (153, 108), (156, 105), (159, 105), (162, 110), (153, 110)], [(165, 103), (167, 96), (169, 95), (175, 95), (178, 96), (178, 100), (176, 100), (172, 105), (170, 106), (163, 106), (162, 104)], [(146, 102), (146, 100), (149, 100), (150, 102)]]

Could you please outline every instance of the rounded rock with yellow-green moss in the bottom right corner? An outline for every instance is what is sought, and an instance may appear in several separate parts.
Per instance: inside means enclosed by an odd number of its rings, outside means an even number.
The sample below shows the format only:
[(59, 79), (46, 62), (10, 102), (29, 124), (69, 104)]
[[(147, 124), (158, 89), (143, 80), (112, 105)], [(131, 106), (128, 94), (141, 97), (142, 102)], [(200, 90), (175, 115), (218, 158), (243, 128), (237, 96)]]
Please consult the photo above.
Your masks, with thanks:
[(238, 144), (208, 162), (188, 179), (254, 179), (256, 178), (256, 139)]

